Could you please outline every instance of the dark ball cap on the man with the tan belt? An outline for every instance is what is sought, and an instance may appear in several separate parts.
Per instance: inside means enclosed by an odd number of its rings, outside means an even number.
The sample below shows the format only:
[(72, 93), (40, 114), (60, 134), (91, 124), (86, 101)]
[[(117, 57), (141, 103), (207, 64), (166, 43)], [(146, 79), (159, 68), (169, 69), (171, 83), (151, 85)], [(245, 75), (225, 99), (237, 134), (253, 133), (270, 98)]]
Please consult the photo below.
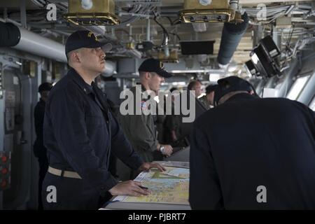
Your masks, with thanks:
[(109, 52), (112, 48), (111, 43), (101, 43), (97, 37), (88, 30), (78, 30), (66, 39), (66, 54), (79, 48), (101, 48), (104, 52)]

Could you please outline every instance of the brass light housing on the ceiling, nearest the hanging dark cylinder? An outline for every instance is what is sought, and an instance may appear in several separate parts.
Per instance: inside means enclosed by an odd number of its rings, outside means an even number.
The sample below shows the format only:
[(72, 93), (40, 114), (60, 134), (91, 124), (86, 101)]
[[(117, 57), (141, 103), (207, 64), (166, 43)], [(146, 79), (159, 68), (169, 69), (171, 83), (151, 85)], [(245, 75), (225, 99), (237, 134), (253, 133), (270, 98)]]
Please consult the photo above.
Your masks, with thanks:
[(209, 6), (202, 6), (198, 0), (185, 0), (179, 17), (186, 23), (230, 22), (235, 18), (235, 10), (229, 6), (228, 0), (213, 0)]

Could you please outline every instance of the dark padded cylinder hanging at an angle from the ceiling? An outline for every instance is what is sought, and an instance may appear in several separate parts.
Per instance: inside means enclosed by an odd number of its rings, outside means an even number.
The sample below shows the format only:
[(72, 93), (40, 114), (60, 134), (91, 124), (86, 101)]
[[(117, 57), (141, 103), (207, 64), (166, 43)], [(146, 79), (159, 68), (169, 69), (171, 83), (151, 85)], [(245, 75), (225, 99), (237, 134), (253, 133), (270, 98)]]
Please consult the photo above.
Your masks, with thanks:
[(224, 66), (230, 63), (237, 45), (241, 41), (241, 37), (246, 33), (248, 26), (247, 13), (241, 15), (241, 19), (244, 22), (238, 24), (225, 22), (221, 36), (220, 50), (218, 52), (218, 64)]

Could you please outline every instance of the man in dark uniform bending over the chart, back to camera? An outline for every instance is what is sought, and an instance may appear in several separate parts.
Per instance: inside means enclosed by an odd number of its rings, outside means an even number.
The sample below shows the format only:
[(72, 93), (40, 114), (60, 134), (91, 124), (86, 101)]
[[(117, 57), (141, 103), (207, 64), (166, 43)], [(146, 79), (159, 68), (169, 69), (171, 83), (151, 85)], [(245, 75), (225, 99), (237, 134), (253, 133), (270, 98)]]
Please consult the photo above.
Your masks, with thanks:
[(260, 99), (246, 80), (218, 80), (216, 107), (195, 121), (193, 209), (315, 209), (315, 118), (300, 102)]

